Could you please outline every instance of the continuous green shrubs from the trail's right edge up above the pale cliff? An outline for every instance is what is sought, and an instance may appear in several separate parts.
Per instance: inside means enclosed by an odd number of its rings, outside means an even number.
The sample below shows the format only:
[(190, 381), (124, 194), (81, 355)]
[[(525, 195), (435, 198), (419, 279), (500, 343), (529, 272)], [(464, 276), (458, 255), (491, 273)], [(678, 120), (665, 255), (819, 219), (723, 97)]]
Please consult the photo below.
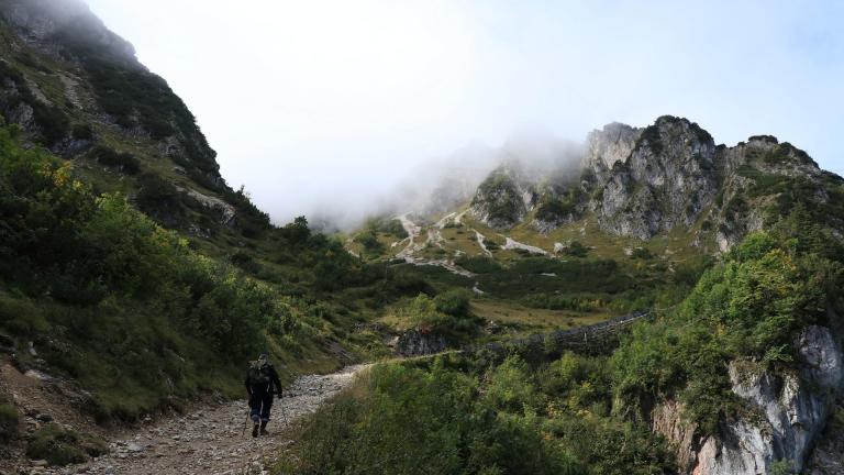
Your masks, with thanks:
[(796, 334), (844, 323), (834, 317), (844, 311), (843, 252), (797, 210), (746, 238), (680, 306), (637, 324), (608, 356), (513, 349), (376, 368), (303, 426), (300, 462), (278, 472), (676, 473), (649, 408), (679, 398), (700, 435), (753, 413), (730, 391), (726, 364), (797, 371)]

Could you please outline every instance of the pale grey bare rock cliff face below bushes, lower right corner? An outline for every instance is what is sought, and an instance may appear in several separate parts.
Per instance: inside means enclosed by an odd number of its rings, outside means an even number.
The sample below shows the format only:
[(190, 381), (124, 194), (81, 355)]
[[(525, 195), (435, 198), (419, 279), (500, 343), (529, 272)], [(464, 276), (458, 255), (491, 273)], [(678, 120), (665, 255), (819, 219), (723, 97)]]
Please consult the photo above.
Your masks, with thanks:
[(674, 444), (680, 473), (755, 475), (786, 464), (801, 473), (814, 445), (825, 442), (820, 434), (844, 389), (844, 353), (833, 331), (817, 325), (803, 330), (795, 347), (799, 372), (775, 374), (747, 362), (730, 364), (732, 391), (756, 417), (723, 421), (717, 435), (697, 437), (696, 427), (684, 420), (682, 404), (656, 406), (652, 427)]

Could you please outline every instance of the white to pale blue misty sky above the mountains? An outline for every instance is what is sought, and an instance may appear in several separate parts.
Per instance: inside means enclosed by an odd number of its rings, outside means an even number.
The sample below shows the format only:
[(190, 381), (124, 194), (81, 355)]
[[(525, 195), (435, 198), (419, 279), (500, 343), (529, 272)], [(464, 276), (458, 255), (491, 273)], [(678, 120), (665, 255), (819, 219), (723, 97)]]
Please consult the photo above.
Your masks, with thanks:
[(840, 1), (87, 1), (277, 222), (359, 212), (467, 144), (666, 113), (844, 175)]

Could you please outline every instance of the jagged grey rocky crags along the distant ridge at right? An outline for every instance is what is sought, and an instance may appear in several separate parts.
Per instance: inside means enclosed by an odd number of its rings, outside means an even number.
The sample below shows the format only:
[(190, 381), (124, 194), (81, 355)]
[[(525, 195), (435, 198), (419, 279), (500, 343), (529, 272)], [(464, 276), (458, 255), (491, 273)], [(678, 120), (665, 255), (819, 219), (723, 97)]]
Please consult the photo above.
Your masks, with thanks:
[(715, 145), (697, 123), (665, 115), (643, 129), (611, 123), (591, 132), (579, 173), (535, 177), (503, 164), (469, 210), (492, 228), (529, 223), (542, 233), (590, 217), (608, 233), (641, 240), (688, 229), (695, 244), (723, 252), (798, 202), (841, 233), (842, 184), (776, 137)]

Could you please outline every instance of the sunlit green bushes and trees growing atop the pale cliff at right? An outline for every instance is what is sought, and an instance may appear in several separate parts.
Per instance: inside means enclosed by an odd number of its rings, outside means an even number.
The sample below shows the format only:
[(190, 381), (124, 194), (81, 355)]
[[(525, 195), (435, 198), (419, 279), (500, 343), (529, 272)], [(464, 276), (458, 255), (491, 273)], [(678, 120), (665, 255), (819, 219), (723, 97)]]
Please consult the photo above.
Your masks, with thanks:
[(747, 357), (775, 368), (791, 364), (796, 332), (825, 322), (826, 308), (840, 305), (841, 244), (820, 231), (812, 238), (812, 228), (792, 216), (774, 232), (747, 236), (704, 273), (679, 308), (637, 327), (612, 358), (619, 399), (635, 407), (677, 396), (703, 433), (736, 415), (741, 406), (730, 390), (728, 363)]

